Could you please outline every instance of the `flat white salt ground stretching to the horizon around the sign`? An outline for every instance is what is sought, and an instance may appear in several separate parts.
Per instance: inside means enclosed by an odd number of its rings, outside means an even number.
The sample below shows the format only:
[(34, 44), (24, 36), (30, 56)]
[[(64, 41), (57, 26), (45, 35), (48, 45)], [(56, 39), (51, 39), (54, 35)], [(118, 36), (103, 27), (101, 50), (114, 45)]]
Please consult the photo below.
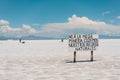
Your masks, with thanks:
[(99, 40), (90, 62), (90, 51), (73, 52), (68, 41), (0, 41), (0, 80), (120, 80), (120, 39)]

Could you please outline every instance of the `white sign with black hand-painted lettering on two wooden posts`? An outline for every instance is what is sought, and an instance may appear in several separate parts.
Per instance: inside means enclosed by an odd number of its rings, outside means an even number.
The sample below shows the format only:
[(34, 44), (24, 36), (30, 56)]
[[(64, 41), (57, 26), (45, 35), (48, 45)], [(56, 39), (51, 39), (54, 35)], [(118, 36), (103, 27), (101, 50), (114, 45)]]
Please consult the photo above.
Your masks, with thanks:
[(77, 51), (91, 51), (91, 61), (93, 61), (93, 51), (98, 46), (98, 34), (73, 34), (69, 35), (69, 48), (74, 51), (73, 62), (76, 62)]

